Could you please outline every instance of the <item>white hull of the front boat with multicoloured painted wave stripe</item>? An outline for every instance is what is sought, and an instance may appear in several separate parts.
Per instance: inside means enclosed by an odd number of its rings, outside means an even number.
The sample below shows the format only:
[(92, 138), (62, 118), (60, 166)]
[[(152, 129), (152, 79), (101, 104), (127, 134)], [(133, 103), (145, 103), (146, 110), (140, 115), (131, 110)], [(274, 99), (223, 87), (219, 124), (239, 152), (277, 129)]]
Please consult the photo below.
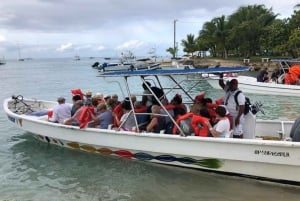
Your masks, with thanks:
[[(56, 104), (25, 101), (35, 111), (51, 109)], [(263, 140), (267, 136), (279, 139), (278, 132), (287, 136), (292, 121), (258, 121), (256, 139), (232, 139), (79, 129), (48, 122), (46, 115), (17, 114), (22, 105), (14, 104), (12, 99), (5, 100), (4, 110), (8, 119), (21, 129), (39, 140), (62, 147), (268, 180), (300, 182), (300, 143)]]

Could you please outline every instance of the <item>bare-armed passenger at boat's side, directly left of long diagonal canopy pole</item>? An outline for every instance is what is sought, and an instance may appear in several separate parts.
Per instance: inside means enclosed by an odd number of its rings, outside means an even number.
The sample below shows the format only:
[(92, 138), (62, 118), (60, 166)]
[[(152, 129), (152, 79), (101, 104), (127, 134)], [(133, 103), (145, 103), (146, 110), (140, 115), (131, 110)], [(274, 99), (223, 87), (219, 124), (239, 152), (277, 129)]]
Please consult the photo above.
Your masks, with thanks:
[(147, 132), (160, 133), (166, 127), (166, 121), (164, 116), (159, 116), (160, 107), (158, 105), (153, 105), (151, 107), (151, 121), (146, 127)]

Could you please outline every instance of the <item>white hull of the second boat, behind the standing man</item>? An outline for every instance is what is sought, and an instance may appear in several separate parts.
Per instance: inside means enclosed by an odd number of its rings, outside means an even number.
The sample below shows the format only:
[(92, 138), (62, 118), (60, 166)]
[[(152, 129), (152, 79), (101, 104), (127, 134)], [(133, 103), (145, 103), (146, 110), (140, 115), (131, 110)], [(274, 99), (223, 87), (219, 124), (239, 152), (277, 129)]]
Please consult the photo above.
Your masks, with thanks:
[[(231, 80), (233, 78), (238, 80), (239, 89), (246, 93), (300, 97), (300, 86), (298, 85), (257, 82), (256, 78), (250, 76), (224, 77), (224, 80)], [(218, 76), (209, 76), (207, 82), (213, 88), (221, 89)]]

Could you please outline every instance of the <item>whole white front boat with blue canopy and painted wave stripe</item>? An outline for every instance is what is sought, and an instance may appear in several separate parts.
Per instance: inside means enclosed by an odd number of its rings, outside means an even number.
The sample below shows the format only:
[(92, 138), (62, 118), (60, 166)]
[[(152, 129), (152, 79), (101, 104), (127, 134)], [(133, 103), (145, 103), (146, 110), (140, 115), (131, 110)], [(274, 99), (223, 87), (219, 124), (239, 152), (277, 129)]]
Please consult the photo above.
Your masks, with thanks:
[[(195, 87), (201, 80), (195, 76), (202, 73), (239, 72), (245, 67), (218, 69), (177, 69), (157, 71), (108, 72), (100, 75), (105, 79), (122, 82), (128, 96), (136, 94), (128, 85), (130, 79), (141, 83), (152, 80), (165, 95), (181, 91), (192, 102), (186, 87)], [(178, 79), (177, 75), (185, 75)], [(160, 79), (169, 79), (171, 86), (163, 86)], [(193, 84), (183, 84), (192, 82)], [(151, 89), (151, 88), (150, 88)], [(159, 97), (151, 91), (159, 101)], [(188, 102), (188, 101), (186, 101)], [(67, 126), (47, 121), (47, 112), (56, 102), (30, 100), (22, 96), (4, 101), (8, 119), (37, 139), (66, 148), (93, 153), (121, 156), (142, 161), (204, 169), (220, 173), (247, 175), (279, 182), (300, 182), (300, 143), (288, 141), (293, 121), (257, 120), (251, 125), (251, 139), (211, 138), (183, 136), (164, 133), (145, 133), (98, 128)], [(132, 104), (132, 103), (131, 103)], [(159, 102), (160, 106), (164, 106)], [(135, 114), (134, 111), (132, 111)], [(255, 118), (249, 114), (249, 118)], [(135, 115), (136, 116), (136, 115)], [(174, 119), (173, 119), (174, 121)], [(176, 125), (176, 122), (174, 122)], [(138, 126), (138, 125), (137, 125)], [(178, 125), (176, 125), (178, 126)], [(180, 130), (180, 127), (178, 128)], [(251, 132), (249, 132), (251, 133)]]

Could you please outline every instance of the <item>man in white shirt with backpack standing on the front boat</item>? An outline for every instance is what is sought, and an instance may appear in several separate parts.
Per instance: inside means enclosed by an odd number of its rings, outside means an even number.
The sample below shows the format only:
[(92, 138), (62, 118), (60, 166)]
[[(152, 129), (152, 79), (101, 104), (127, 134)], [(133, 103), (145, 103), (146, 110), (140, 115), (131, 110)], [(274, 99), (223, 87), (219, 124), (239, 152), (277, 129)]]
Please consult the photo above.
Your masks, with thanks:
[[(219, 85), (225, 90), (223, 102), (232, 116), (233, 138), (243, 138), (245, 95), (238, 89), (237, 79), (232, 79), (228, 83), (228, 89), (223, 80), (223, 74), (220, 75)], [(237, 104), (238, 103), (238, 104)]]

